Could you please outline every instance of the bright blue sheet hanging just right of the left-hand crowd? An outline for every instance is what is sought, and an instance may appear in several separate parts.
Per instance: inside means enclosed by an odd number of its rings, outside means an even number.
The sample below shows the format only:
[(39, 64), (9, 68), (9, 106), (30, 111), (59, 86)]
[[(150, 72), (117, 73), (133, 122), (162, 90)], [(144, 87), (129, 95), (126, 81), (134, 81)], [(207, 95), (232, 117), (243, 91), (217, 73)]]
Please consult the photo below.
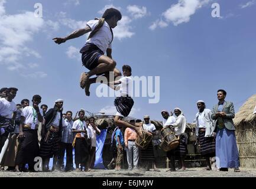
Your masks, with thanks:
[(94, 163), (94, 169), (95, 170), (105, 170), (105, 166), (103, 165), (103, 159), (102, 159), (102, 152), (103, 147), (106, 139), (106, 131), (108, 129), (102, 129), (101, 134), (97, 135), (96, 138), (96, 154), (95, 154), (95, 163)]

